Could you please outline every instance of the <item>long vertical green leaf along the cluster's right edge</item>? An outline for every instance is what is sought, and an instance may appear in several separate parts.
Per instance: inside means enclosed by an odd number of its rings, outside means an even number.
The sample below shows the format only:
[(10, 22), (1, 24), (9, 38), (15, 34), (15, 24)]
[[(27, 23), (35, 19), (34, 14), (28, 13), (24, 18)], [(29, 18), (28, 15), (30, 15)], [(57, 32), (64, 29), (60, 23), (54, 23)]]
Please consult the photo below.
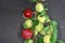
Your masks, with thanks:
[(57, 23), (55, 20), (51, 22), (51, 25), (53, 26), (53, 35), (51, 37), (51, 42), (56, 42), (57, 40)]

